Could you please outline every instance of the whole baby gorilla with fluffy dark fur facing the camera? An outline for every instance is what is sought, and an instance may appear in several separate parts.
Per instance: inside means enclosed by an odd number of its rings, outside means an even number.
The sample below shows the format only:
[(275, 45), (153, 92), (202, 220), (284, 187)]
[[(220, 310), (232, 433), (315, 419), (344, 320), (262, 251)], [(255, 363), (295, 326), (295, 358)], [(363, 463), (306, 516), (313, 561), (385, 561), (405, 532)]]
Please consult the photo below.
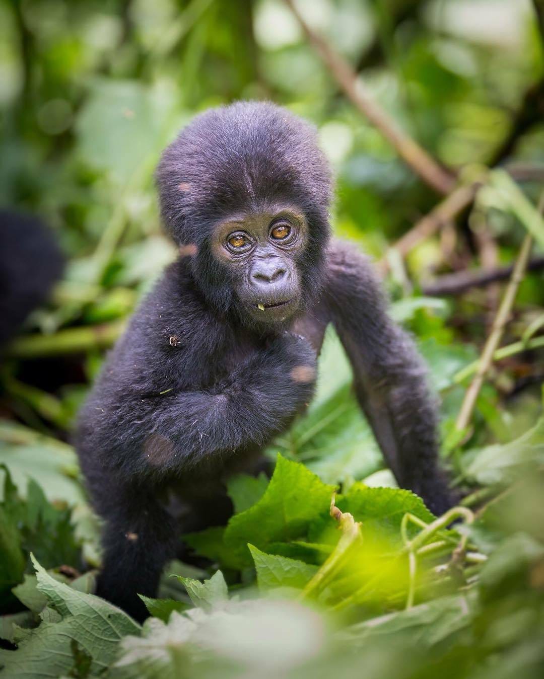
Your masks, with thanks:
[(105, 519), (97, 593), (137, 619), (181, 534), (221, 524), (224, 480), (304, 411), (333, 323), (399, 485), (437, 513), (435, 403), (365, 257), (329, 241), (313, 128), (268, 103), (196, 117), (164, 152), (162, 217), (181, 256), (134, 314), (81, 411), (77, 449)]

